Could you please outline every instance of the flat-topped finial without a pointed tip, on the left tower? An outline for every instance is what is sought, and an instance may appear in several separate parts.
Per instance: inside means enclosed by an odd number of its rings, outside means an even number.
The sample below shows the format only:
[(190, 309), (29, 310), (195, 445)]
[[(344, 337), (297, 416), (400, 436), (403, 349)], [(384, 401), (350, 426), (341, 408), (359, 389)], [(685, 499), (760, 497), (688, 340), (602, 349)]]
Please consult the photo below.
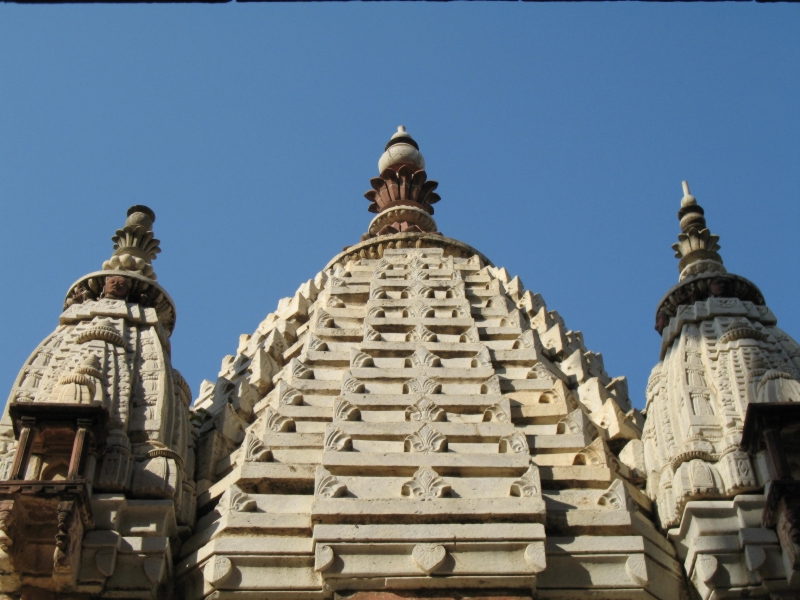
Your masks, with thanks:
[(155, 281), (152, 261), (161, 252), (161, 242), (153, 236), (155, 220), (156, 214), (147, 206), (131, 206), (125, 226), (111, 238), (114, 254), (103, 263), (103, 270), (130, 271)]

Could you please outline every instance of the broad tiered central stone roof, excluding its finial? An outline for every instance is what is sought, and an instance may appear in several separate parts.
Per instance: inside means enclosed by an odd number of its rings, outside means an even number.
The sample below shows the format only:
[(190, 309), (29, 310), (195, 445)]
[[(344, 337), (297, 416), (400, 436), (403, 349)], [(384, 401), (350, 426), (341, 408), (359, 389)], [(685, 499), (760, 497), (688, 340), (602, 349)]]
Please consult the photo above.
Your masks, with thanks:
[(625, 379), (518, 277), (397, 237), (337, 257), (203, 382), (185, 598), (677, 598)]

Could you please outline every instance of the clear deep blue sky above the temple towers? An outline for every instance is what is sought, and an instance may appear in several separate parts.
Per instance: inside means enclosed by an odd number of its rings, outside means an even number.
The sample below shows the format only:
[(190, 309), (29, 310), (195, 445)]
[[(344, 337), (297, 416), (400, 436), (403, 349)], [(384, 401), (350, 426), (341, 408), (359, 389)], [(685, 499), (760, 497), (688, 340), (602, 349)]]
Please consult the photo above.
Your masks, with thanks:
[(681, 180), (800, 336), (800, 5), (0, 5), (0, 383), (133, 204), (196, 394), (356, 243), (397, 125), (440, 231), (626, 375), (658, 361)]

